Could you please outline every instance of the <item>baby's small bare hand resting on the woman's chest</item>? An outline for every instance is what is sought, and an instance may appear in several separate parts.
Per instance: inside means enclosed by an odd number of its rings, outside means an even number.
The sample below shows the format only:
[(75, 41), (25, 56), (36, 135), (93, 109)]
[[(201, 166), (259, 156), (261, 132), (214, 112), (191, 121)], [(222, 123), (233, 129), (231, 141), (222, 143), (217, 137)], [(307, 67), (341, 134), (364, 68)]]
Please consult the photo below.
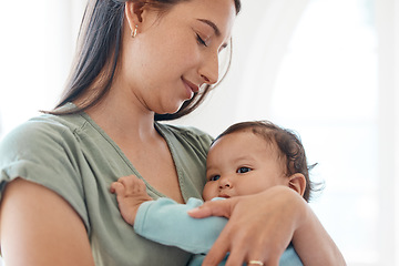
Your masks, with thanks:
[(116, 194), (121, 215), (131, 225), (134, 224), (140, 205), (153, 201), (146, 193), (144, 182), (134, 175), (123, 176), (117, 182), (113, 182), (110, 191)]

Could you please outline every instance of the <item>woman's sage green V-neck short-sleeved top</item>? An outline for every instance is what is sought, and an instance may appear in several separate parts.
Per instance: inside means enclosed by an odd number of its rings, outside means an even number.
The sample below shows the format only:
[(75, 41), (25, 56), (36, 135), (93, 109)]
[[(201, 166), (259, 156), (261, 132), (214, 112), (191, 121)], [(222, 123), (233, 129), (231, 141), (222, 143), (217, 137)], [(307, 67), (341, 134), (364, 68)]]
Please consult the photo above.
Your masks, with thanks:
[[(213, 139), (193, 127), (154, 126), (168, 144), (184, 200), (201, 198)], [(84, 222), (95, 265), (186, 265), (191, 257), (137, 236), (123, 221), (110, 185), (121, 176), (134, 174), (144, 182), (145, 176), (85, 113), (44, 114), (13, 130), (0, 143), (0, 197), (8, 182), (22, 177), (69, 202)], [(165, 196), (146, 186), (153, 198)]]

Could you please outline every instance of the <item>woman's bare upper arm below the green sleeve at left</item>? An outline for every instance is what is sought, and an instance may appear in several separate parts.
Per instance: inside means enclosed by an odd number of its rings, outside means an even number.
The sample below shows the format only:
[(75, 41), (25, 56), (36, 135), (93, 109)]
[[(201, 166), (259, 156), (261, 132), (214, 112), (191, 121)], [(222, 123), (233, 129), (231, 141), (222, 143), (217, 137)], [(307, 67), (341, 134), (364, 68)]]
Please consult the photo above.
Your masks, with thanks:
[(83, 222), (58, 194), (32, 182), (10, 182), (0, 205), (6, 265), (94, 265)]

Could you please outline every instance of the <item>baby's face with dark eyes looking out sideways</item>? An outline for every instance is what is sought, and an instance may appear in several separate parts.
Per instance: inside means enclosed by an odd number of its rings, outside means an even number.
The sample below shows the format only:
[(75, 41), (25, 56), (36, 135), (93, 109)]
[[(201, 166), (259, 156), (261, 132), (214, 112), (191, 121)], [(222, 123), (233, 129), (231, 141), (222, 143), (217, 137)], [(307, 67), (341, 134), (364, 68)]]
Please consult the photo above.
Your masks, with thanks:
[(206, 161), (203, 197), (256, 194), (275, 185), (288, 186), (285, 165), (277, 147), (250, 131), (235, 132), (217, 140)]

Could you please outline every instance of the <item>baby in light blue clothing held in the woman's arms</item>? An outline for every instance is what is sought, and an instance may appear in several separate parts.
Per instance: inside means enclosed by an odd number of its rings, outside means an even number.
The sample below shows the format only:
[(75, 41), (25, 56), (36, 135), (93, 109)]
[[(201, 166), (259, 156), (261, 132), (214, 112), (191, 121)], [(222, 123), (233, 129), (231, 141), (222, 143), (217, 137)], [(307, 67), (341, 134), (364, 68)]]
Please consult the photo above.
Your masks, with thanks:
[[(308, 170), (301, 142), (290, 131), (267, 121), (237, 123), (209, 147), (203, 200), (249, 195), (282, 185), (308, 201), (313, 191)], [(112, 183), (111, 192), (116, 194), (120, 212), (134, 225), (136, 234), (196, 254), (190, 265), (201, 265), (227, 223), (224, 217), (192, 218), (187, 212), (203, 204), (198, 198), (190, 198), (186, 204), (170, 198), (154, 201), (146, 194), (145, 183), (135, 176)], [(279, 265), (303, 265), (291, 245)]]

